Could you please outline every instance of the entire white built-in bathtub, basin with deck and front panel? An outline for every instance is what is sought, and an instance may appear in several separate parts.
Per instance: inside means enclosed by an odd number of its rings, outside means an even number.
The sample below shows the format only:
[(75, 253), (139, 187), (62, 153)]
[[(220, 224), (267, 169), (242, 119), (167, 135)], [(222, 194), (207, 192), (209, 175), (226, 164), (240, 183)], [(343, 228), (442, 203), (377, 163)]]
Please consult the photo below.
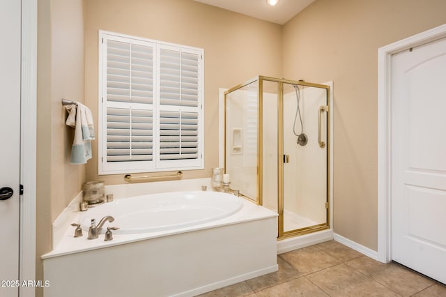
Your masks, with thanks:
[[(277, 271), (277, 213), (267, 208), (210, 191), (119, 198), (66, 210), (65, 233), (42, 256), (45, 297), (197, 296)], [(115, 220), (103, 229), (120, 227), (114, 239), (86, 239), (91, 218), (105, 215)], [(82, 237), (71, 222), (82, 224)]]

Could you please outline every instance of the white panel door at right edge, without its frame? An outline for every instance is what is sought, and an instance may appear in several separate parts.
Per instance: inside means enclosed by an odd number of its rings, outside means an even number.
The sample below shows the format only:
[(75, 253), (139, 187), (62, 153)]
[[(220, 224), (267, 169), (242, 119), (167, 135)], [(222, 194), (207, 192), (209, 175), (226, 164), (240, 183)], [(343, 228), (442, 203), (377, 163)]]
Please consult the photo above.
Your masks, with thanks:
[(392, 56), (392, 259), (446, 283), (446, 38)]

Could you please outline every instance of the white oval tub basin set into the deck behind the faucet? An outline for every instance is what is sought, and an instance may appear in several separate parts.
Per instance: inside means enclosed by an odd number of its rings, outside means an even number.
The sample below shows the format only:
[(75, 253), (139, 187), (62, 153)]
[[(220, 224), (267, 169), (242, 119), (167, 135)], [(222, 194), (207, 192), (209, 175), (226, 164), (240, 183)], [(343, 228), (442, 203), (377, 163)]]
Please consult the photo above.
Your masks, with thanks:
[(189, 227), (226, 218), (240, 211), (242, 199), (222, 192), (167, 192), (119, 199), (82, 214), (80, 223), (88, 231), (91, 219), (96, 224), (105, 215), (119, 227), (114, 234), (137, 234)]

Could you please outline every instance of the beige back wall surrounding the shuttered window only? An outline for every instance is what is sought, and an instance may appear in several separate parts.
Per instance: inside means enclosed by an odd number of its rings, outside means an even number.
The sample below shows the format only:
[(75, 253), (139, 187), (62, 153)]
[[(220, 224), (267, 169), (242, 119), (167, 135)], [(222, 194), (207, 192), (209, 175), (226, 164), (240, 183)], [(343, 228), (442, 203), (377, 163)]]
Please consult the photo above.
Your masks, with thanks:
[[(114, 31), (204, 49), (205, 168), (183, 178), (210, 177), (218, 167), (218, 89), (256, 75), (282, 74), (282, 27), (192, 0), (89, 0), (85, 2), (85, 91), (98, 114), (98, 30)], [(96, 126), (97, 130), (97, 126)], [(87, 180), (124, 183), (123, 174), (98, 176), (98, 142)]]

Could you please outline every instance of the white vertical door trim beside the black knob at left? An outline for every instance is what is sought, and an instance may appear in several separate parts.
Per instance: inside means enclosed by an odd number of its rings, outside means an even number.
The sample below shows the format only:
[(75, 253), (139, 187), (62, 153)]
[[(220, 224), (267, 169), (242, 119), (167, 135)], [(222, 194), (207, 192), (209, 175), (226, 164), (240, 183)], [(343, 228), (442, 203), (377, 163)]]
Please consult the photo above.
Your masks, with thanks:
[[(22, 98), (20, 131), (20, 280), (36, 279), (37, 0), (22, 0)], [(19, 296), (35, 296), (20, 287)]]

